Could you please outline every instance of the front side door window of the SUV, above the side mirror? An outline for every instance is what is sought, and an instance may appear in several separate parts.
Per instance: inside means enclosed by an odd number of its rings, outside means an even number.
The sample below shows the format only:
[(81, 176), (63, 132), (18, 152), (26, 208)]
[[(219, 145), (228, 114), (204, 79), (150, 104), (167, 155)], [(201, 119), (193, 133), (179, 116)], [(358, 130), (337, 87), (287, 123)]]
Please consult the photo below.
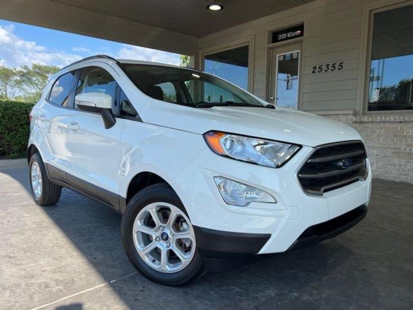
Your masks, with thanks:
[(82, 70), (76, 95), (82, 93), (105, 93), (112, 97), (113, 104), (116, 86), (116, 81), (106, 70), (99, 67), (87, 67)]

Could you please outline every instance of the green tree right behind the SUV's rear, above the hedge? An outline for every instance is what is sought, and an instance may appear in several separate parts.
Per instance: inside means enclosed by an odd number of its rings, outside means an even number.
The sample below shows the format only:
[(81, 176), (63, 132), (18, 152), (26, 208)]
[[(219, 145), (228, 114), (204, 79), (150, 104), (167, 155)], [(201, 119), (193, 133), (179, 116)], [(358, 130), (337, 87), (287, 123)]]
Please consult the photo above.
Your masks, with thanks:
[(57, 71), (59, 71), (58, 67), (43, 64), (32, 64), (31, 67), (23, 66), (18, 69), (23, 97), (33, 101), (38, 100), (47, 84), (47, 79)]

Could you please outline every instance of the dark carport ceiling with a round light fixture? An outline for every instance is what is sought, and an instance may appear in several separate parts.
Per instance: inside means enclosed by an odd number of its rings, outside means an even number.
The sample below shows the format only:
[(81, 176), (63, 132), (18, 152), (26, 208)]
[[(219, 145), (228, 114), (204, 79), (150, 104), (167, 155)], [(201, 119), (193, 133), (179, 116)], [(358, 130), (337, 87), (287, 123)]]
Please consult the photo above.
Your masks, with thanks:
[(222, 0), (221, 12), (207, 10), (213, 0), (54, 0), (198, 38), (271, 15), (311, 0)]

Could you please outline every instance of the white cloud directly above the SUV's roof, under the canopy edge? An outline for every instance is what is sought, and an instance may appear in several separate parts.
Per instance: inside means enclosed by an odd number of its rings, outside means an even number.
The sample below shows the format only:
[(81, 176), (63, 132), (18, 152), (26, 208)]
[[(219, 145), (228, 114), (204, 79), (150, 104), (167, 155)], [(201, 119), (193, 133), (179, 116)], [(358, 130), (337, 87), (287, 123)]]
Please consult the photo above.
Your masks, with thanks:
[(140, 46), (133, 46), (128, 44), (123, 44), (123, 47), (117, 53), (116, 58), (145, 60), (175, 65), (179, 65), (180, 63), (178, 54), (164, 52), (161, 50), (152, 50), (151, 48), (142, 48)]

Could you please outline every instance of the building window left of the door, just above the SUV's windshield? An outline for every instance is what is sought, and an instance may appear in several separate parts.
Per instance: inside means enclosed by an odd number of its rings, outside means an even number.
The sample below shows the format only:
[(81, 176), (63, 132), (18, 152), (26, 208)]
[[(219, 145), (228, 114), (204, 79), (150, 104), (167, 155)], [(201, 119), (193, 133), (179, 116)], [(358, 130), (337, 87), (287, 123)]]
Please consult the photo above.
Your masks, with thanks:
[(204, 71), (247, 90), (248, 45), (205, 55)]

